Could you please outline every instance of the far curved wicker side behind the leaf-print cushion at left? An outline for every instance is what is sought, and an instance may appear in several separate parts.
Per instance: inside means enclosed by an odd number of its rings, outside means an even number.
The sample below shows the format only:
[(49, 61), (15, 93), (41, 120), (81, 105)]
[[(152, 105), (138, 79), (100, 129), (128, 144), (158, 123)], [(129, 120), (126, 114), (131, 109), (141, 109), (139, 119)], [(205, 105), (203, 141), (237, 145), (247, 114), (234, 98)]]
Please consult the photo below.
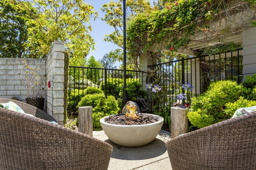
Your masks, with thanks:
[(0, 98), (0, 103), (8, 103), (9, 101), (15, 102), (25, 113), (32, 114), (35, 117), (38, 117), (40, 119), (47, 120), (49, 122), (57, 122), (52, 116), (50, 116), (48, 113), (42, 111), (41, 109), (38, 109), (32, 105), (26, 104), (24, 102), (20, 102), (17, 100), (12, 99), (4, 99)]

